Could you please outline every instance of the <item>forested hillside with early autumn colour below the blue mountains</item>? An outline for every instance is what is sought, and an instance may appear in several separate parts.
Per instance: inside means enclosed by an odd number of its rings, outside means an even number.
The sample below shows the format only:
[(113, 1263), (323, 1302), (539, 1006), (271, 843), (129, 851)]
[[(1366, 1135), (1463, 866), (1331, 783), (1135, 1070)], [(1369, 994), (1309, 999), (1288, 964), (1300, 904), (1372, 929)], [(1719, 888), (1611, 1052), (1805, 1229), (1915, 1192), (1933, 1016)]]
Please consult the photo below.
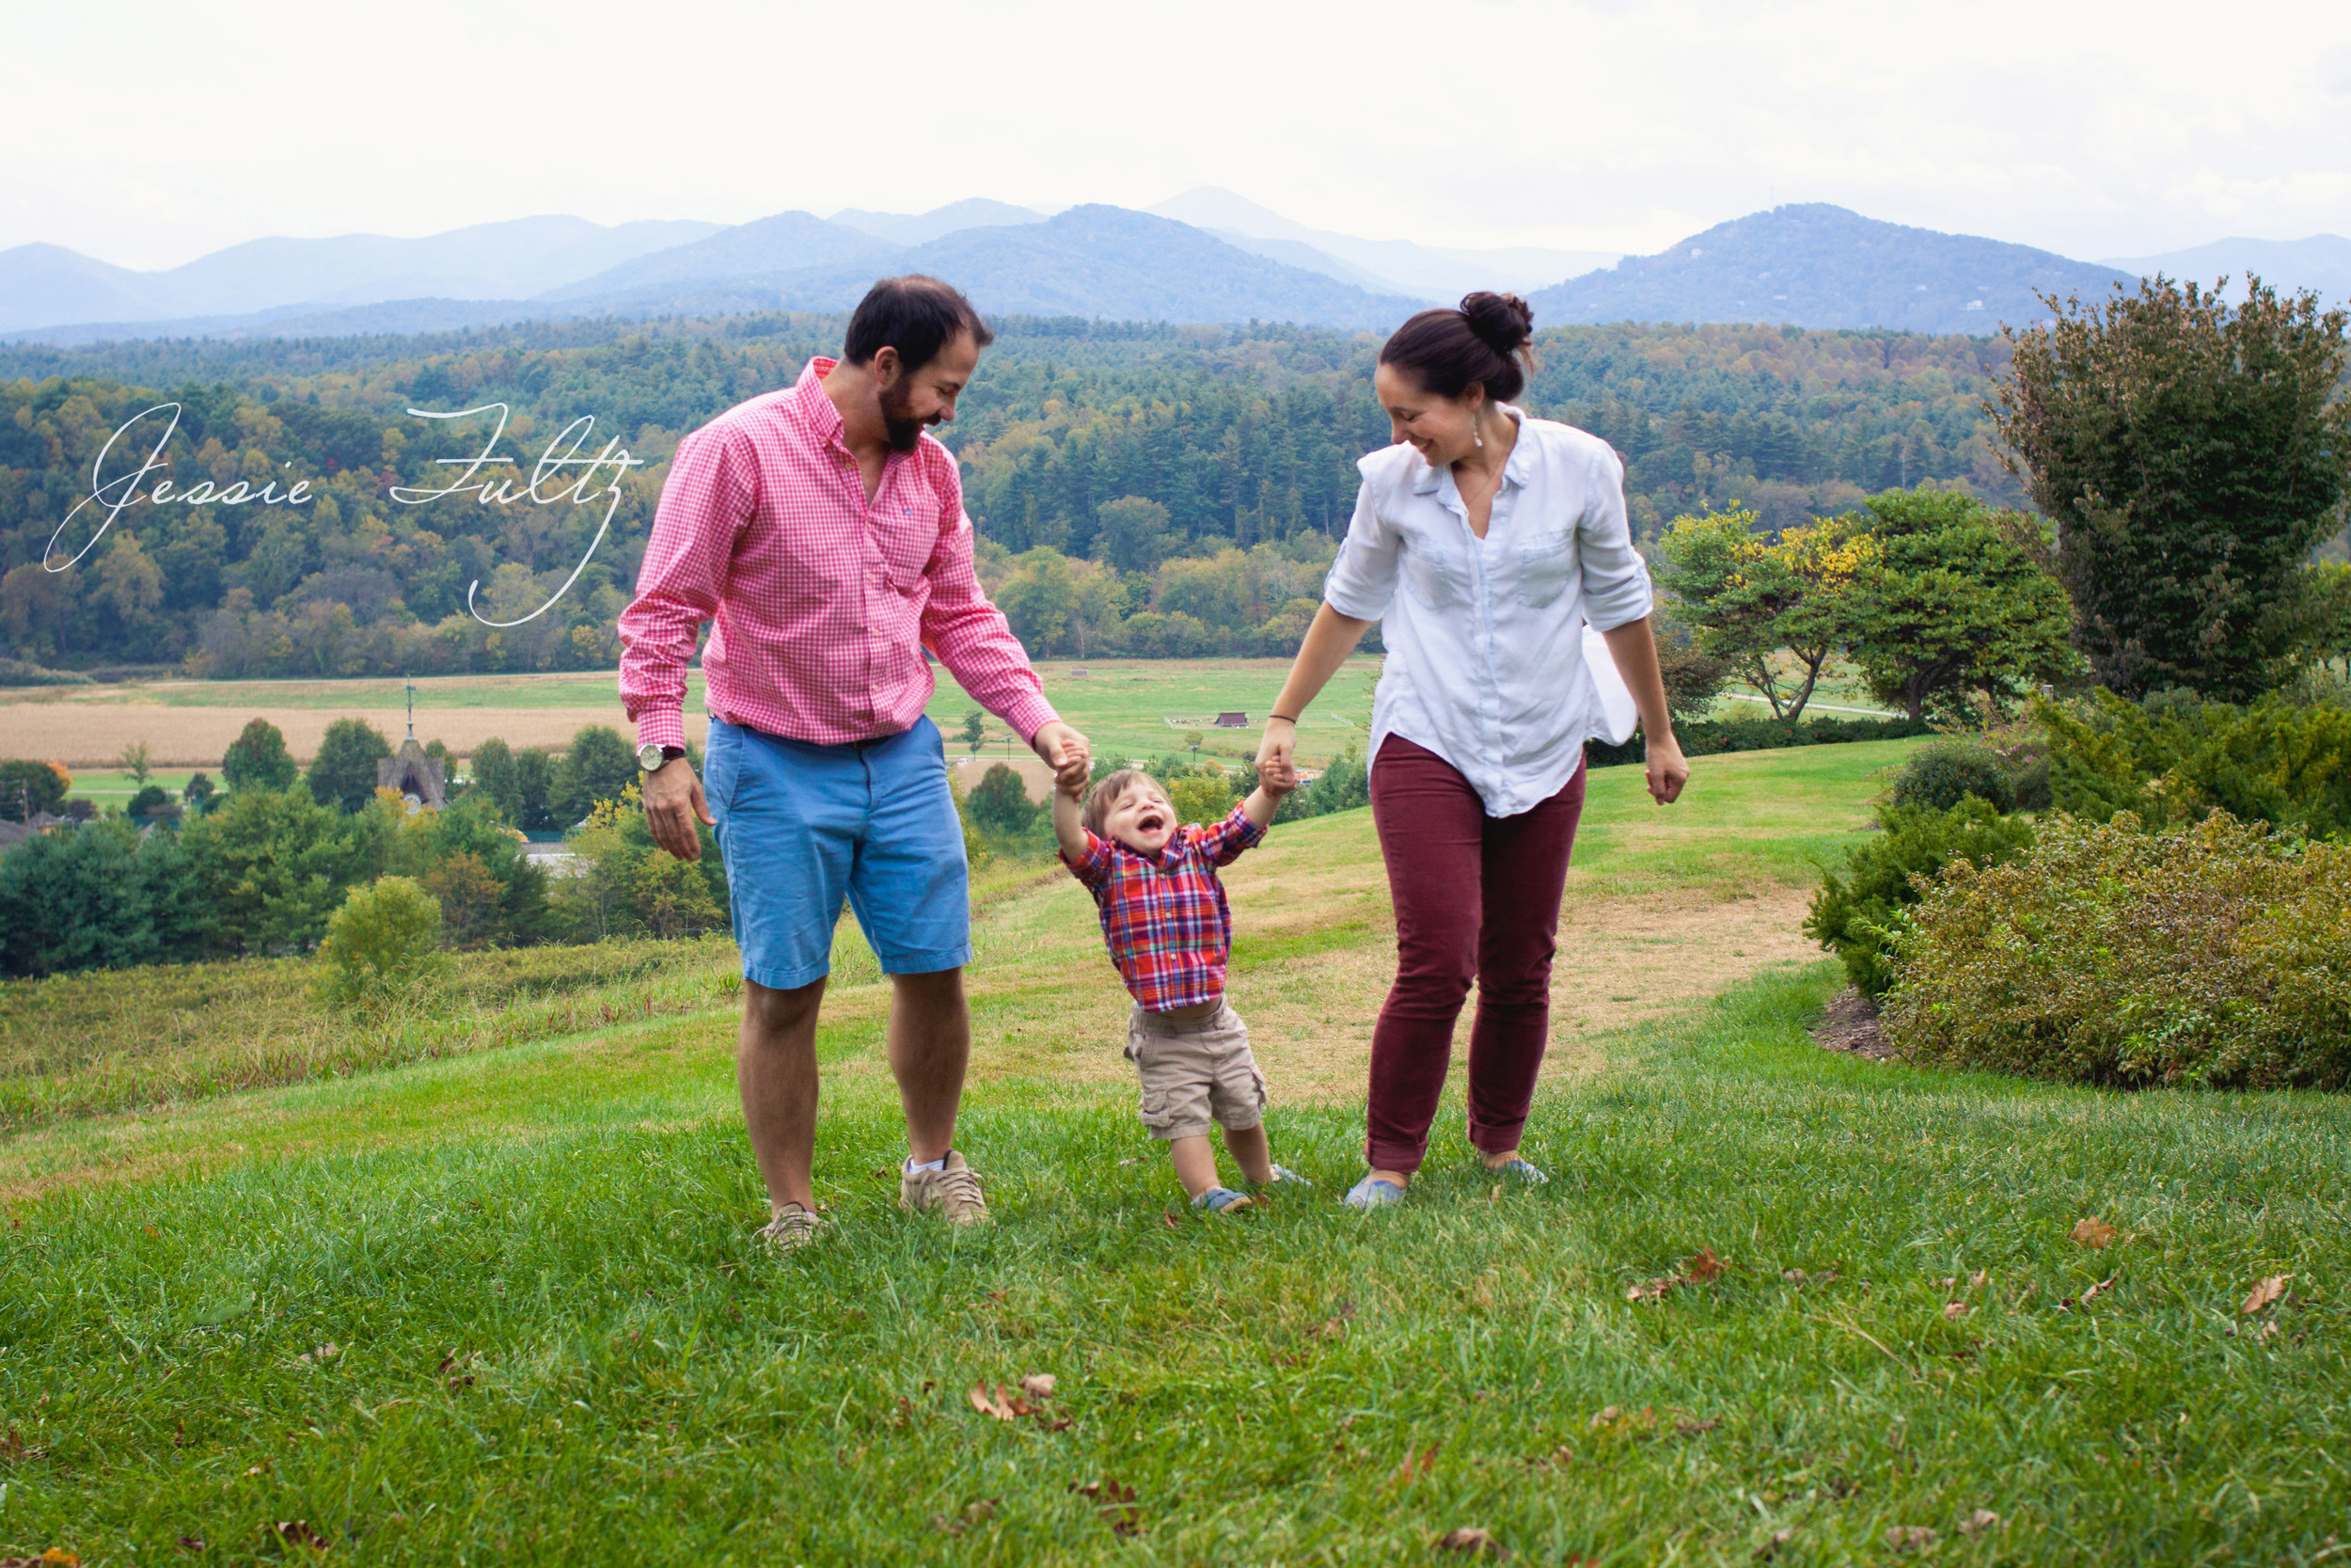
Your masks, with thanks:
[[(611, 623), (679, 435), (790, 383), (839, 329), (839, 317), (764, 315), (0, 350), (0, 637), (19, 658), (63, 668), (174, 663), (195, 675), (609, 665)], [(1773, 527), (1923, 480), (2022, 498), (1980, 409), (2003, 364), (1996, 341), (1563, 327), (1538, 348), (1528, 407), (1617, 447), (1643, 536), (1733, 498)], [(1053, 545), (1110, 557), (1117, 614), (1192, 604), (1185, 614), (1223, 646), (1246, 635), (1279, 651), (1272, 642), (1298, 621), (1284, 607), (1312, 599), (1328, 536), (1345, 529), (1354, 461), (1387, 442), (1371, 397), (1375, 350), (1371, 334), (1013, 317), (943, 435), (964, 461), (983, 538), (1006, 555)], [(541, 449), (583, 416), (595, 418), (583, 456), (618, 437), (644, 461), (618, 480), (611, 534), (569, 595), (503, 630), (482, 618), (545, 602), (585, 555), (604, 503), (397, 501), (393, 487), (451, 484), (456, 473), (433, 458), (477, 451), (489, 428), (428, 425), (404, 409), (491, 400), (513, 404), (501, 451), (515, 458), (487, 470), (491, 482), (520, 491)], [(181, 404), (165, 447), (179, 489), (209, 477), (216, 491), (240, 480), (261, 491), (275, 480), (284, 494), (306, 480), (315, 498), (141, 498), (96, 545), (103, 512), (85, 505), (52, 559), (87, 555), (45, 571), (52, 534), (94, 489), (99, 449), (160, 402)], [(101, 480), (136, 468), (162, 418), (125, 435)], [(992, 574), (1011, 571), (990, 555)], [(470, 583), (480, 618), (465, 609)]]

